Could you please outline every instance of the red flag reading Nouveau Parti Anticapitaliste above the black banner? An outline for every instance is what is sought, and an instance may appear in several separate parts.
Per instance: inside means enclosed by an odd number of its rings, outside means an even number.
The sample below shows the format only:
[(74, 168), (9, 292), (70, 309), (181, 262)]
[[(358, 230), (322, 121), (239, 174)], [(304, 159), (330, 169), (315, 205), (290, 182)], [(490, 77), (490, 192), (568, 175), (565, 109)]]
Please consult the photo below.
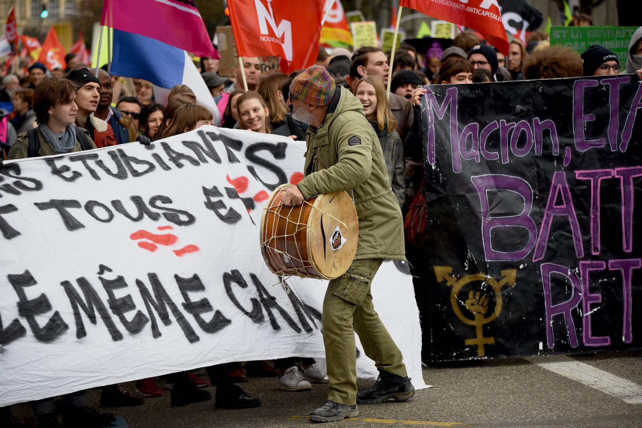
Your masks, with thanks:
[(477, 30), (504, 55), (508, 39), (497, 0), (401, 0), (399, 6)]

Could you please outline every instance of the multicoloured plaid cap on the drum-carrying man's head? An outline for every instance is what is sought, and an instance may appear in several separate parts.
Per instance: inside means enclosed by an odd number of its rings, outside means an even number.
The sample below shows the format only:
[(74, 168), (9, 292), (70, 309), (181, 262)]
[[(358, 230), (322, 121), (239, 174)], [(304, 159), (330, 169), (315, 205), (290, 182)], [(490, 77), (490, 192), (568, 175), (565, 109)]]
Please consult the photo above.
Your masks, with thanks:
[(333, 95), (334, 80), (320, 65), (308, 67), (290, 85), (290, 98), (317, 107), (329, 105)]

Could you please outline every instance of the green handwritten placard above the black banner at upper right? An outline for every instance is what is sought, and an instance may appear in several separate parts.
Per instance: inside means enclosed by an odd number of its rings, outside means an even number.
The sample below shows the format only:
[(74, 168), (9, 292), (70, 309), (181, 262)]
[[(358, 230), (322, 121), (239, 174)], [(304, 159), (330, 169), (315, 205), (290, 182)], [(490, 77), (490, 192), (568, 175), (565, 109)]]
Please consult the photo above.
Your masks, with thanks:
[(627, 62), (631, 36), (638, 27), (551, 27), (551, 45), (570, 47), (582, 53), (595, 44), (611, 49), (618, 55), (620, 65)]

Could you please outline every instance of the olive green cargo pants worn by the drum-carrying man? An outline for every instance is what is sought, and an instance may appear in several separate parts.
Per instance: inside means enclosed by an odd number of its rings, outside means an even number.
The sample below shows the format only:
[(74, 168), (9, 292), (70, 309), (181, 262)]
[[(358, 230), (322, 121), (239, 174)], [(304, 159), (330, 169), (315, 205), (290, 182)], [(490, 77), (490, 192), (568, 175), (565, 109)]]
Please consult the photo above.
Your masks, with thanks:
[[(403, 355), (372, 305), (370, 283), (383, 259), (355, 260), (346, 273), (330, 281), (323, 302), (323, 339), (328, 398), (356, 404), (357, 373), (354, 332), (377, 368), (405, 377)], [(392, 284), (391, 284), (392, 285)]]

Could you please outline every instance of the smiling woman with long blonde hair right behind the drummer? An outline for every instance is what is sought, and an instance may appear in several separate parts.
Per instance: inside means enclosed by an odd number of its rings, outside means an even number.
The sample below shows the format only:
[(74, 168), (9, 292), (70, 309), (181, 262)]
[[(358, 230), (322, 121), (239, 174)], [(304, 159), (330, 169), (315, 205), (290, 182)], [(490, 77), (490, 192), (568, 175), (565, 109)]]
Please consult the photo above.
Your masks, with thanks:
[(395, 131), (397, 122), (392, 116), (383, 81), (379, 76), (365, 76), (357, 83), (354, 94), (361, 101), (363, 114), (379, 137), (392, 191), (399, 202), (399, 208), (403, 208), (406, 193), (406, 162), (403, 143)]

